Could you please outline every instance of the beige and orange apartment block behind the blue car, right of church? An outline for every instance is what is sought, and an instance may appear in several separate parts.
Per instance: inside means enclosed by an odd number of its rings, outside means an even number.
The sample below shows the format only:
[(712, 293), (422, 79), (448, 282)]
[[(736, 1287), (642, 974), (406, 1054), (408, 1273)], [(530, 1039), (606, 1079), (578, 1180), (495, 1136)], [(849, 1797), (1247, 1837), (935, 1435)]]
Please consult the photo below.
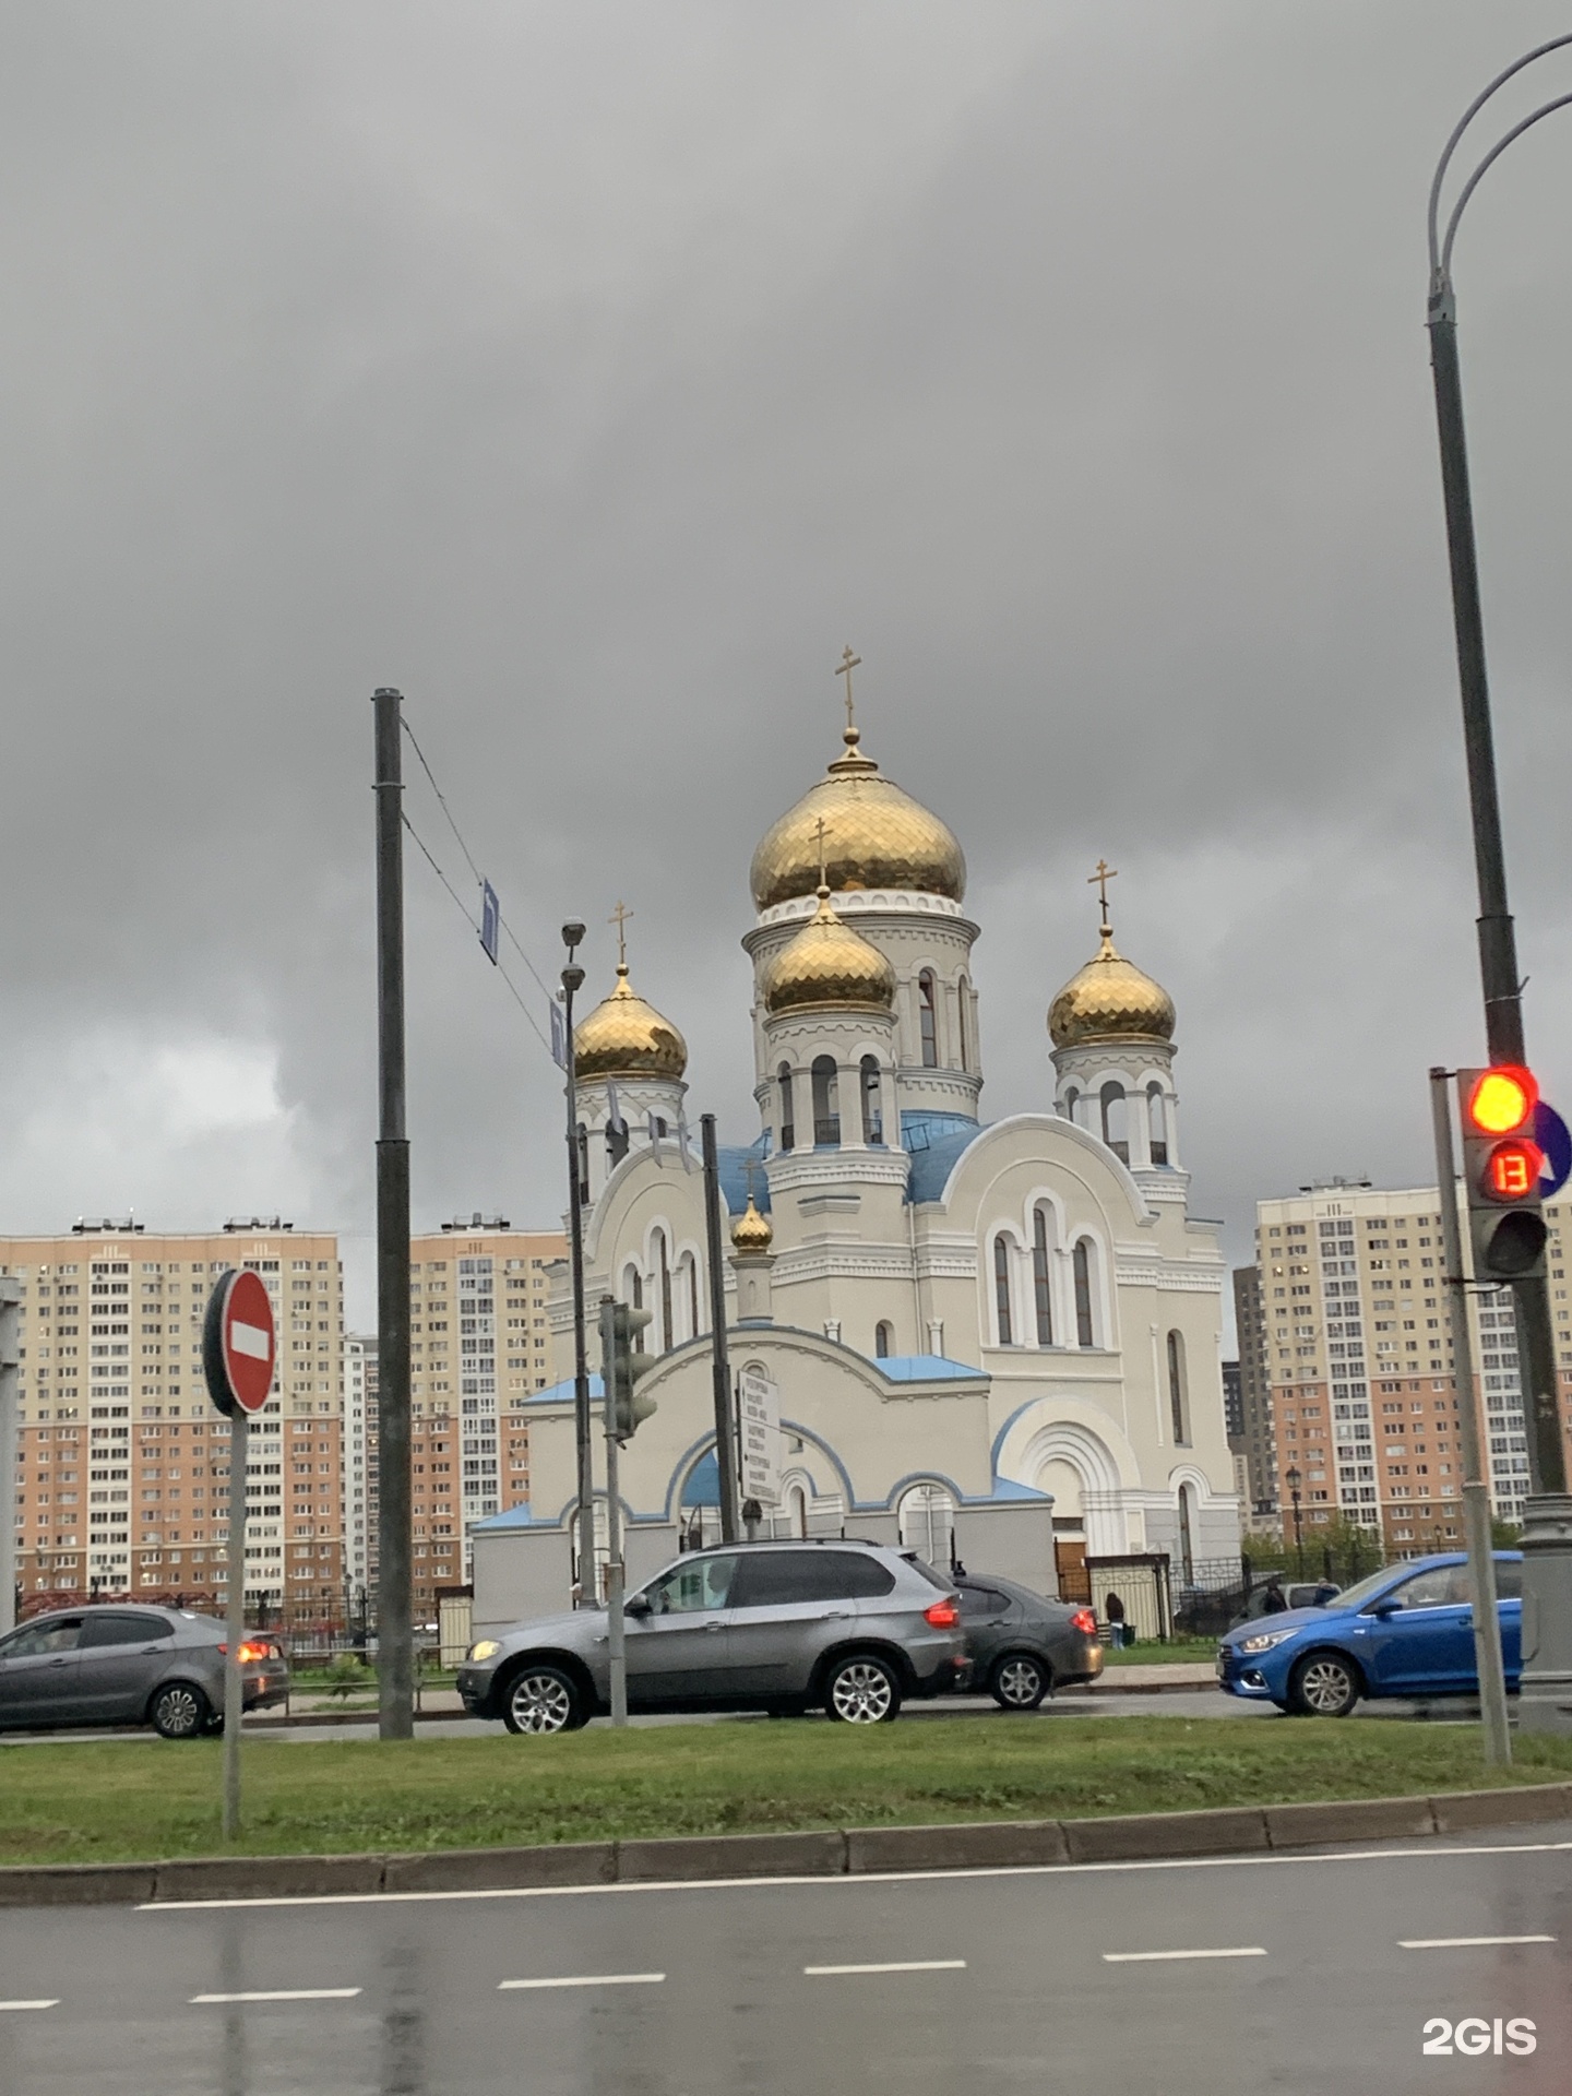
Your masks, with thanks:
[[(1461, 1193), (1459, 1193), (1461, 1207)], [(1572, 1417), (1572, 1297), (1549, 1203), (1557, 1381)], [(1467, 1218), (1463, 1216), (1467, 1241)], [(1251, 1513), (1306, 1538), (1333, 1515), (1379, 1528), (1392, 1555), (1459, 1545), (1459, 1392), (1434, 1186), (1331, 1184), (1258, 1203), (1256, 1266), (1235, 1274)], [(1490, 1494), (1522, 1520), (1528, 1434), (1509, 1289), (1469, 1291)]]

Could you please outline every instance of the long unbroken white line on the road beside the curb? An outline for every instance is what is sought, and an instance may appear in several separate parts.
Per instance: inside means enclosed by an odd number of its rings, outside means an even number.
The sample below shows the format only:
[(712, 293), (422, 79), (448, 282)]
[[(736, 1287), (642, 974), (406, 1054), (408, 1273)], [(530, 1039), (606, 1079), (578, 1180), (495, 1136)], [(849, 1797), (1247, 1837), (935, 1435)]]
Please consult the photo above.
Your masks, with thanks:
[(1090, 1878), (1138, 1870), (1274, 1870), (1314, 1863), (1448, 1861), (1471, 1855), (1564, 1855), (1572, 1840), (1492, 1842), (1469, 1849), (1346, 1849), (1333, 1855), (1182, 1855), (1136, 1863), (996, 1863), (979, 1870), (843, 1870), (792, 1878), (631, 1878), (625, 1884), (497, 1884), (457, 1893), (277, 1893), (264, 1899), (143, 1899), (138, 1914), (208, 1914), (216, 1907), (381, 1907), (430, 1899), (572, 1899), (583, 1893), (742, 1893), (803, 1884), (931, 1884), (949, 1878)]

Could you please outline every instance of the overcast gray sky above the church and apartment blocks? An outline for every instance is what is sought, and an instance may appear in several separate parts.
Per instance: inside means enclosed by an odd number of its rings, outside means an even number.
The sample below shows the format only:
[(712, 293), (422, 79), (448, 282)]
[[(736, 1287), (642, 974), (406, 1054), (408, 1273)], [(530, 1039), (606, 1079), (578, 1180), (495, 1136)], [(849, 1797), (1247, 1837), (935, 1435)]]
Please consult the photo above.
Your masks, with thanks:
[[(543, 973), (576, 914), (606, 987), (625, 897), (694, 1117), (750, 1136), (748, 855), (834, 752), (847, 641), (868, 748), (966, 847), (989, 1115), (1050, 1096), (1107, 853), (1230, 1253), (1258, 1195), (1423, 1178), (1425, 1069), (1482, 1050), (1423, 199), (1566, 27), (6, 8), (0, 1226), (369, 1230), (377, 683)], [(1457, 260), (1562, 1105), (1570, 174), (1555, 117)], [(555, 1071), (415, 855), (409, 926), (417, 1226), (551, 1222)]]

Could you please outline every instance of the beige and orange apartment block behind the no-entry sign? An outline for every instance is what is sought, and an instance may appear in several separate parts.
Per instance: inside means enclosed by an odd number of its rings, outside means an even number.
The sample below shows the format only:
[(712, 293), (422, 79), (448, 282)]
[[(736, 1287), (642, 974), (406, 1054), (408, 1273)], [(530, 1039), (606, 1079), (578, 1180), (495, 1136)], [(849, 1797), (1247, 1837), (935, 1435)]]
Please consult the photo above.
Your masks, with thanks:
[(54, 1237), (0, 1237), (0, 1272), (21, 1281), (23, 1597), (224, 1606), (231, 1429), (201, 1377), (201, 1320), (231, 1266), (262, 1276), (279, 1329), (272, 1394), (249, 1429), (247, 1599), (289, 1624), (337, 1614), (337, 1239), (256, 1216), (212, 1232), (84, 1220)]

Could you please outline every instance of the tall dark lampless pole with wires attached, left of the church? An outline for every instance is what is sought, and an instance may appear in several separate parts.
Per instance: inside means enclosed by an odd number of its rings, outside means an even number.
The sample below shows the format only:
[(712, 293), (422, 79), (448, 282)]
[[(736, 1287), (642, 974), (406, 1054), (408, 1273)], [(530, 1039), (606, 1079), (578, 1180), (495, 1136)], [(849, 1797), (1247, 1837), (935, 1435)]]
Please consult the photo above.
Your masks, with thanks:
[(405, 1123), (402, 694), (384, 685), (377, 750), (377, 1731), (415, 1735), (409, 1499), (409, 1130)]

